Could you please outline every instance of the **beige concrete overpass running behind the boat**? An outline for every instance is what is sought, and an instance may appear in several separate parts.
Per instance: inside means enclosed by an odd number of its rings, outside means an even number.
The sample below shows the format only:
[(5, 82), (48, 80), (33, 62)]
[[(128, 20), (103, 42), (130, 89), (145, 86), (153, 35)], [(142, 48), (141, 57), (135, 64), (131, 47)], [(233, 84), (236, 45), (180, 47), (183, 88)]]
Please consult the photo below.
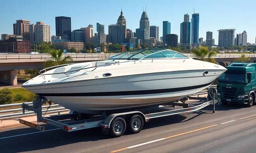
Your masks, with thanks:
[[(100, 61), (115, 54), (63, 54), (62, 57), (71, 56), (73, 62)], [(192, 54), (185, 54), (193, 57)], [(244, 54), (256, 61), (256, 54)], [(232, 62), (242, 54), (217, 54), (214, 59), (217, 62)], [(0, 82), (17, 84), (16, 69), (43, 69), (44, 61), (51, 59), (48, 54), (0, 54)]]

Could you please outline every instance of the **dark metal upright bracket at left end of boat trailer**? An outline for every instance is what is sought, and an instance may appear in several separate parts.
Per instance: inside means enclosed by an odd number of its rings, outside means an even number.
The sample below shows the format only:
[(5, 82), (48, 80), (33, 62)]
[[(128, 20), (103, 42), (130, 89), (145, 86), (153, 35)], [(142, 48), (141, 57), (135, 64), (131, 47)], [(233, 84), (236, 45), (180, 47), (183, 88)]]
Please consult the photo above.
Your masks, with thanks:
[(25, 113), (25, 110), (33, 111), (36, 113), (37, 122), (42, 122), (42, 105), (45, 104), (47, 101), (46, 98), (42, 96), (37, 96), (36, 100), (33, 101), (33, 106), (29, 106), (25, 103), (22, 103), (22, 113)]

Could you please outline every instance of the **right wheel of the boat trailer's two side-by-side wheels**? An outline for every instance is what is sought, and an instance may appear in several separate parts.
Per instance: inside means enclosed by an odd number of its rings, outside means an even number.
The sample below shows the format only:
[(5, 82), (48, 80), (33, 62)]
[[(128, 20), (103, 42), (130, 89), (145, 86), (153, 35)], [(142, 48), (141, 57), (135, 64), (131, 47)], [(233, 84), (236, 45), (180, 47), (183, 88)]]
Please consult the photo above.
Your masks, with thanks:
[(133, 115), (129, 122), (129, 131), (132, 134), (139, 133), (143, 128), (144, 121), (140, 115)]

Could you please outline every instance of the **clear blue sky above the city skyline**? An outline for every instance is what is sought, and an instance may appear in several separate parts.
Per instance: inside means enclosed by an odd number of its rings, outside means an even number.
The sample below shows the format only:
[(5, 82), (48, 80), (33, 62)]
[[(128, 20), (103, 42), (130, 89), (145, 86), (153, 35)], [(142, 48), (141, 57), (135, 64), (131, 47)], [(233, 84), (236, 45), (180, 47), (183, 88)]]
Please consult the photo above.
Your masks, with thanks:
[[(96, 23), (115, 24), (121, 7), (126, 18), (126, 27), (135, 31), (139, 28), (142, 7), (147, 7), (150, 25), (159, 26), (162, 36), (163, 21), (171, 22), (171, 33), (180, 37), (180, 23), (183, 15), (200, 14), (199, 38), (206, 38), (206, 32), (212, 31), (215, 44), (218, 44), (218, 29), (234, 28), (236, 33), (247, 32), (247, 42), (255, 43), (256, 16), (255, 0), (212, 0), (212, 1), (114, 1), (114, 0), (1, 0), (0, 2), (0, 34), (13, 34), (12, 24), (18, 19), (28, 19), (31, 23), (43, 21), (51, 26), (51, 34), (55, 35), (55, 17), (71, 17), (72, 30), (92, 24), (96, 32)], [(179, 38), (180, 40), (180, 38)]]

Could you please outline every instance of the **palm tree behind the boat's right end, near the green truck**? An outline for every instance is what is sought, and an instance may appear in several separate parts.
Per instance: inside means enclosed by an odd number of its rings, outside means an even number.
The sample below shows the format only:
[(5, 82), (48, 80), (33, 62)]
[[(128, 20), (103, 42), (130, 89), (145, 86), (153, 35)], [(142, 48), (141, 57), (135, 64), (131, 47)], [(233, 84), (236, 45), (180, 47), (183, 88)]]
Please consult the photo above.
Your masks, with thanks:
[(216, 56), (216, 52), (209, 51), (209, 48), (206, 46), (195, 47), (195, 49), (192, 51), (192, 54), (198, 60), (216, 63), (216, 61), (213, 59), (213, 57)]

